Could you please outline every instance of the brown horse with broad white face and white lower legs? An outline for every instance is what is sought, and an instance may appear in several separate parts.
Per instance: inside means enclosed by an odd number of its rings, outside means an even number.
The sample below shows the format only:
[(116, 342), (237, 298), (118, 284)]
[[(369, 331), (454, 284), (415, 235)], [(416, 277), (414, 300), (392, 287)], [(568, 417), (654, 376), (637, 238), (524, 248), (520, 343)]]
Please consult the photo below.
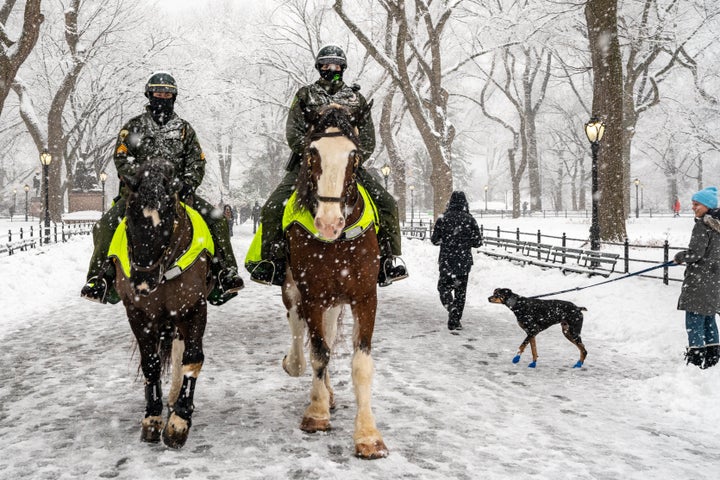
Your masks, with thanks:
[[(361, 112), (362, 113), (362, 112)], [(306, 367), (303, 339), (310, 338), (312, 390), (300, 428), (306, 432), (330, 430), (335, 401), (328, 374), (343, 305), (349, 304), (353, 329), (352, 380), (355, 387), (355, 454), (381, 458), (388, 454), (375, 425), (370, 399), (373, 360), (370, 356), (375, 312), (379, 248), (375, 225), (355, 226), (364, 209), (355, 182), (359, 153), (357, 129), (349, 112), (338, 105), (321, 110), (313, 121), (297, 181), (297, 205), (311, 212), (315, 232), (293, 223), (286, 230), (289, 262), (282, 287), (292, 343), (283, 359), (291, 376)], [(375, 224), (377, 219), (375, 219)], [(352, 226), (347, 230), (346, 226)], [(345, 230), (344, 230), (345, 229)]]

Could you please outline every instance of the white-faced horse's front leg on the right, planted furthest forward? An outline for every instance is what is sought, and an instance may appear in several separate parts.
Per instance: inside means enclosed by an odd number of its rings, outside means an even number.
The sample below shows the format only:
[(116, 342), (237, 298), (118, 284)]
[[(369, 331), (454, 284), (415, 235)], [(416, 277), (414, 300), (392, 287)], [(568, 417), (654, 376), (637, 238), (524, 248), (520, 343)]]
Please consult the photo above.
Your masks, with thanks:
[(360, 458), (374, 459), (388, 455), (382, 435), (375, 425), (372, 413), (372, 376), (373, 360), (370, 355), (377, 297), (371, 296), (352, 304), (355, 325), (353, 328), (352, 379), (357, 401), (355, 416), (355, 455)]

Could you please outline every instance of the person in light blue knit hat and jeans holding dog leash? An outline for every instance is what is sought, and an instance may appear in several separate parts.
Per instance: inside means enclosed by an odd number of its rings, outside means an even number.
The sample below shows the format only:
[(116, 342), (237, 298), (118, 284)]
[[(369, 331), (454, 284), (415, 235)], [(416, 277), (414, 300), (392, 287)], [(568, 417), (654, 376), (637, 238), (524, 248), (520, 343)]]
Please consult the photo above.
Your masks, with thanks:
[(708, 187), (692, 196), (695, 226), (687, 250), (675, 263), (685, 264), (678, 310), (685, 310), (687, 363), (710, 368), (720, 360), (720, 338), (715, 321), (720, 311), (720, 230), (708, 212), (718, 206), (717, 188)]

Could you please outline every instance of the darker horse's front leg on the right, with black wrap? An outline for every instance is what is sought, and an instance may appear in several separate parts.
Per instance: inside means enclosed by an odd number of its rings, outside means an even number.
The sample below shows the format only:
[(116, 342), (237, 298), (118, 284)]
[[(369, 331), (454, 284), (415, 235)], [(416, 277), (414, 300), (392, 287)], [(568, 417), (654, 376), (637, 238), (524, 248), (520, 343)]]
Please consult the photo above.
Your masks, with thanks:
[(182, 356), (182, 386), (178, 398), (173, 404), (168, 417), (167, 426), (163, 430), (165, 445), (180, 448), (185, 445), (194, 409), (193, 395), (195, 382), (200, 375), (205, 355), (202, 349), (202, 338), (207, 323), (207, 303), (201, 301), (185, 317), (178, 321), (178, 330), (185, 340), (185, 351)]

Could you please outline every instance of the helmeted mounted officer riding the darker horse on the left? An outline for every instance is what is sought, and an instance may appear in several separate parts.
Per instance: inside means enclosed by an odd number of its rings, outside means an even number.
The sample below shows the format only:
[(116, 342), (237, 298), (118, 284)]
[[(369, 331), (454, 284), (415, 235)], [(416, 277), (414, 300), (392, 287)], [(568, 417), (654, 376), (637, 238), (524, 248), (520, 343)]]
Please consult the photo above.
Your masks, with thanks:
[(128, 190), (124, 179), (132, 177), (146, 160), (164, 158), (175, 166), (180, 200), (197, 210), (210, 228), (215, 243), (212, 271), (219, 290), (215, 293), (220, 297), (215, 303), (224, 303), (243, 288), (243, 281), (237, 272), (225, 217), (195, 194), (205, 175), (205, 155), (195, 130), (174, 112), (177, 84), (172, 75), (153, 73), (145, 85), (145, 96), (149, 100), (145, 113), (132, 118), (118, 134), (114, 159), (120, 178), (120, 196), (93, 228), (95, 250), (88, 280), (80, 295), (101, 303), (119, 301), (112, 287), (115, 269), (107, 259), (107, 252), (125, 215)]

